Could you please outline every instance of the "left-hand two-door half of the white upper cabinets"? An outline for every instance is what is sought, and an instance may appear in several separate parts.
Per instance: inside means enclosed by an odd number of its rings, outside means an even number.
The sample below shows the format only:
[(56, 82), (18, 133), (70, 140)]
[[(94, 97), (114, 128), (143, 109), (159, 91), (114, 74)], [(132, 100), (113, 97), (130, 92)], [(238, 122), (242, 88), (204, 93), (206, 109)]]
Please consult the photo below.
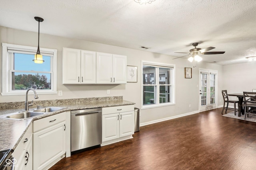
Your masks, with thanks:
[(96, 52), (63, 48), (63, 84), (95, 84)]

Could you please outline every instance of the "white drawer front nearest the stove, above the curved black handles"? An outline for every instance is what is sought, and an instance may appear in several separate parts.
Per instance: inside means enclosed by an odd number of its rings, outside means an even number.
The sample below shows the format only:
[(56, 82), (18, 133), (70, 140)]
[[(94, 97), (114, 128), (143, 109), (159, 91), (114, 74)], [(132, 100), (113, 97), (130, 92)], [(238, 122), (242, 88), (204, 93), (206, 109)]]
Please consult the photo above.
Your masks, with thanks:
[(26, 133), (24, 134), (24, 136), (22, 137), (22, 139), (20, 140), (19, 144), (17, 145), (17, 147), (15, 148), (14, 152), (12, 153), (12, 155), (18, 160), (18, 158), (21, 156), (22, 152), (24, 149), (27, 148), (28, 143), (32, 141), (32, 125), (30, 125), (26, 131)]

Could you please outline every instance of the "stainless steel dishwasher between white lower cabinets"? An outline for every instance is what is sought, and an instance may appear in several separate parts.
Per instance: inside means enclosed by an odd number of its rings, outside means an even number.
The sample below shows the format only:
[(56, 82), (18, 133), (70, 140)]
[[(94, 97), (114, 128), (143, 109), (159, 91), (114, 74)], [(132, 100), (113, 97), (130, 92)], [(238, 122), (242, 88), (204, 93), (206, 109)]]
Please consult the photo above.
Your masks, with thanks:
[(102, 108), (71, 111), (71, 152), (102, 143)]

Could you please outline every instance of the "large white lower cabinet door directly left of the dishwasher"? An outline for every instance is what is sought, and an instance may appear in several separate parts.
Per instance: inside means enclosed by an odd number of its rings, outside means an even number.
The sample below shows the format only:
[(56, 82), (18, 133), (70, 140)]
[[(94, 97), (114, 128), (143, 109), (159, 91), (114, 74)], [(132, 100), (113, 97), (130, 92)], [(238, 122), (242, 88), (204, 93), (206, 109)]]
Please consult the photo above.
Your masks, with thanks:
[[(65, 122), (58, 123), (33, 134), (33, 169), (46, 169), (65, 154)], [(55, 163), (55, 162), (54, 162)]]

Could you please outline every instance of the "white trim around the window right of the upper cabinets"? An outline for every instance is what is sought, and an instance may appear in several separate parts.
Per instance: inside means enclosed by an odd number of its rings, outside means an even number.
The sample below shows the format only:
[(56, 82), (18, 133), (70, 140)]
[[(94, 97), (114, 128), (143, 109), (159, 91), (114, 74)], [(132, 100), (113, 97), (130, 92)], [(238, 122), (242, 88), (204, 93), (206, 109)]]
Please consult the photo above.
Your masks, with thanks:
[(166, 67), (166, 68), (173, 68), (173, 79), (171, 84), (172, 84), (172, 90), (171, 90), (171, 99), (172, 103), (162, 103), (162, 104), (152, 104), (152, 105), (143, 105), (143, 76), (141, 76), (141, 110), (143, 109), (150, 109), (150, 108), (155, 108), (155, 107), (164, 107), (164, 106), (172, 106), (175, 105), (175, 87), (176, 87), (176, 74), (175, 74), (175, 64), (166, 64), (166, 63), (157, 63), (157, 62), (152, 62), (152, 61), (141, 61), (141, 74), (143, 74), (143, 65), (150, 65), (150, 66), (156, 66), (156, 67)]

